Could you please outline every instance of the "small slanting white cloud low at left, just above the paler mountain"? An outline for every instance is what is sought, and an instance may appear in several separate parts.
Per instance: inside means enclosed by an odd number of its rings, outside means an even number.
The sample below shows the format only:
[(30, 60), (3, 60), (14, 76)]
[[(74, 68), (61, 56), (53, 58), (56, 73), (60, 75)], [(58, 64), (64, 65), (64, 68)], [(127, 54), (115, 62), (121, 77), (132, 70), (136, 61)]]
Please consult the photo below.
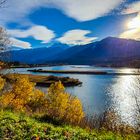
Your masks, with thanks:
[(21, 41), (21, 40), (16, 39), (16, 38), (10, 38), (10, 41), (12, 43), (12, 46), (14, 46), (14, 47), (19, 47), (22, 49), (30, 49), (31, 48), (31, 44), (29, 42)]

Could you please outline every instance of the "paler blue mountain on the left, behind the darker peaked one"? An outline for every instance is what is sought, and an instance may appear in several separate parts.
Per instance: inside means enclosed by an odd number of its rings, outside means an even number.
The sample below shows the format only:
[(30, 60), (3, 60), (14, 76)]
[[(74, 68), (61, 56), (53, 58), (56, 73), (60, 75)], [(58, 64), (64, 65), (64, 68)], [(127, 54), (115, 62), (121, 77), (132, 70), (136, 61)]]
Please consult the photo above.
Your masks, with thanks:
[(5, 52), (2, 56), (3, 60), (10, 62), (21, 62), (27, 64), (39, 64), (43, 63), (43, 61), (49, 60), (57, 53), (67, 49), (69, 46), (65, 44), (54, 44), (51, 47), (43, 47), (43, 48), (35, 48), (35, 49), (22, 49), (22, 50), (12, 50), (9, 52)]

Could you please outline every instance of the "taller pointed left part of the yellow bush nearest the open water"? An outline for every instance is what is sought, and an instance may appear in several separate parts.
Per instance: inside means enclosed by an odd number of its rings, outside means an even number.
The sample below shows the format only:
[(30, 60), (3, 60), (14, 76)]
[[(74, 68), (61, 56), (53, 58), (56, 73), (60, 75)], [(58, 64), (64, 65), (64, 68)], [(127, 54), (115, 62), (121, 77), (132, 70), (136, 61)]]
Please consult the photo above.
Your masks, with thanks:
[(53, 118), (62, 119), (68, 103), (68, 94), (64, 93), (61, 82), (54, 83), (48, 89), (47, 114)]

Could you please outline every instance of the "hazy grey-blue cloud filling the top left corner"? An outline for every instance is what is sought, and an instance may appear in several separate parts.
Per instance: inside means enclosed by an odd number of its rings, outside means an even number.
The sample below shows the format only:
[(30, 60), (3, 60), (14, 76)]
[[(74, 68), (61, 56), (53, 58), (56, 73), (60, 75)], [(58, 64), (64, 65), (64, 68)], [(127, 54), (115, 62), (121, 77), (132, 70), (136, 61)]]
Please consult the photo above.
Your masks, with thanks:
[(8, 0), (3, 5), (4, 8), (0, 8), (0, 24), (4, 25), (9, 22), (32, 24), (26, 16), (42, 4), (44, 3), (40, 2), (40, 0), (24, 0), (22, 2), (21, 0)]

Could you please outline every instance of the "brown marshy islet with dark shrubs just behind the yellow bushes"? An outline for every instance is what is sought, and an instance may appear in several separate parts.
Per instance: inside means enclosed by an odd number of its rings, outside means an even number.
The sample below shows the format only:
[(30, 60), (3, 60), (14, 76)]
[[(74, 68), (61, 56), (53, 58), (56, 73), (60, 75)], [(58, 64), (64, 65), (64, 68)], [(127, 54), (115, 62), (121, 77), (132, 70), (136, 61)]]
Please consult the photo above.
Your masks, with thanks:
[(32, 74), (7, 74), (3, 77), (11, 82), (16, 80), (18, 76), (28, 76), (30, 82), (36, 83), (36, 86), (43, 86), (43, 87), (49, 87), (52, 83), (61, 81), (64, 86), (70, 87), (70, 86), (80, 86), (82, 85), (82, 82), (78, 79), (70, 78), (70, 77), (60, 77), (60, 76), (42, 76), (42, 75), (32, 75)]

